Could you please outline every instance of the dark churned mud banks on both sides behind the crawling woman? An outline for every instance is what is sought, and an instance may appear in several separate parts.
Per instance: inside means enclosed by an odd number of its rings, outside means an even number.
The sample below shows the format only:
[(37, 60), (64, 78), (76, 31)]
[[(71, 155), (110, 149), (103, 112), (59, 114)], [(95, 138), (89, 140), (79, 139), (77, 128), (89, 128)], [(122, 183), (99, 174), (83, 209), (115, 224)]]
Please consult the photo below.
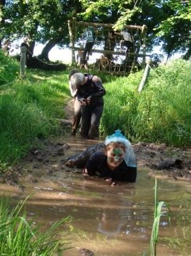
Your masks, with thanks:
[[(60, 121), (68, 131), (71, 127), (71, 116), (73, 115), (73, 100), (66, 106), (67, 119)], [(53, 172), (66, 171), (81, 173), (81, 169), (71, 169), (64, 164), (69, 155), (80, 153), (88, 146), (103, 142), (103, 140), (81, 139), (78, 135), (54, 138), (51, 140), (39, 140), (39, 147), (32, 148), (29, 155), (13, 169), (8, 170), (3, 177), (0, 177), (1, 183), (9, 183), (13, 186), (20, 186), (19, 179), (29, 172), (35, 173), (38, 170), (45, 169), (47, 174)], [(172, 179), (190, 180), (191, 179), (191, 149), (167, 147), (165, 144), (154, 144), (139, 142), (132, 144), (136, 154), (138, 169), (148, 169), (150, 176), (157, 176), (160, 173), (166, 174)], [(30, 163), (32, 169), (25, 170), (27, 163)], [(36, 178), (31, 176), (29, 182), (36, 183)]]

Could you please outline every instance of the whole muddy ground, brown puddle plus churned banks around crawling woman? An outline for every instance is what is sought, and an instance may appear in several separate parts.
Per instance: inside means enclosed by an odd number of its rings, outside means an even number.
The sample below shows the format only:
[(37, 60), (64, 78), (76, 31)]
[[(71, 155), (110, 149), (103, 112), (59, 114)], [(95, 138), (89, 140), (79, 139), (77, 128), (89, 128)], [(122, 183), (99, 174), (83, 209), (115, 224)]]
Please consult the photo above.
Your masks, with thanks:
[(98, 177), (81, 175), (82, 169), (66, 166), (68, 156), (102, 142), (70, 136), (72, 101), (66, 112), (67, 121), (62, 120), (61, 124), (68, 135), (39, 140), (27, 157), (1, 177), (1, 196), (8, 195), (18, 202), (31, 195), (27, 200), (27, 218), (37, 216), (41, 229), (72, 216), (63, 229), (63, 237), (69, 234), (73, 246), (64, 253), (66, 256), (90, 256), (91, 252), (95, 256), (136, 256), (143, 255), (143, 248), (149, 245), (153, 222), (152, 177), (159, 177), (160, 198), (173, 211), (171, 225), (162, 220), (160, 236), (178, 237), (181, 245), (176, 248), (174, 243), (173, 248), (169, 240), (163, 241), (159, 255), (180, 256), (180, 248), (190, 255), (191, 186), (185, 182), (191, 179), (190, 149), (133, 144), (138, 179), (136, 183), (119, 183), (113, 188)]

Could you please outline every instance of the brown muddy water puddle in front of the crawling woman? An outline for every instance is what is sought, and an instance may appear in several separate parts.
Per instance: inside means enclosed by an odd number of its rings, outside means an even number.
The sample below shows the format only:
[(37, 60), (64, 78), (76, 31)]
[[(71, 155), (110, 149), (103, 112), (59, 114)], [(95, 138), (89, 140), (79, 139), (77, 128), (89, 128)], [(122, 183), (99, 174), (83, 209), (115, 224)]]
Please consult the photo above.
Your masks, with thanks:
[[(78, 138), (66, 139), (70, 148), (67, 154), (75, 153), (94, 144)], [(66, 157), (66, 155), (62, 156)], [(84, 177), (81, 174), (61, 169), (61, 156), (52, 157), (48, 165), (25, 163), (29, 172), (21, 179), (25, 186), (22, 192), (6, 184), (0, 184), (1, 195), (6, 193), (15, 199), (27, 200), (29, 218), (45, 229), (46, 224), (72, 216), (63, 229), (63, 238), (71, 241), (73, 248), (65, 256), (77, 256), (80, 248), (87, 248), (97, 256), (143, 255), (150, 242), (153, 224), (154, 183), (146, 170), (138, 171), (135, 184), (118, 183), (111, 187), (105, 181)], [(51, 157), (50, 157), (51, 160)], [(54, 171), (50, 172), (53, 165)], [(51, 169), (52, 170), (52, 169)], [(35, 182), (31, 182), (36, 179)], [(162, 217), (159, 227), (157, 255), (191, 255), (191, 184), (158, 179), (159, 200), (166, 201), (172, 211), (171, 224)]]

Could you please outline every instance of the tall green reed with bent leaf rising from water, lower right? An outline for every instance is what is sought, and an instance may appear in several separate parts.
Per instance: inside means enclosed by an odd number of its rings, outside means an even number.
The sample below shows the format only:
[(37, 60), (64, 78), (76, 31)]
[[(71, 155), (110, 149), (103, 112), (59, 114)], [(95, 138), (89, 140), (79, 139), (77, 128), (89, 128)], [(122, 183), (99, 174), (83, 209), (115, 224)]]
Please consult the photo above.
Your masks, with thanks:
[[(166, 207), (167, 211), (162, 211), (162, 207)], [(167, 216), (170, 221), (171, 210), (166, 202), (158, 202), (157, 199), (157, 179), (155, 179), (155, 210), (152, 227), (152, 234), (150, 238), (150, 256), (157, 256), (157, 243), (159, 238), (159, 223), (162, 216)]]

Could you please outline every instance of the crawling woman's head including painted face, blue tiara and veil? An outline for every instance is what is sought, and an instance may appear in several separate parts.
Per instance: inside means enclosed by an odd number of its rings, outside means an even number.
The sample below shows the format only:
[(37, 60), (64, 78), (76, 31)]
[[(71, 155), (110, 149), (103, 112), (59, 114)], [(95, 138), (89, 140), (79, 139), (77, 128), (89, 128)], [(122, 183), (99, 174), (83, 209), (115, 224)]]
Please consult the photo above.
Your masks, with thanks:
[(128, 166), (136, 166), (136, 159), (131, 143), (120, 130), (106, 137), (104, 144), (109, 167), (116, 168), (124, 160)]

